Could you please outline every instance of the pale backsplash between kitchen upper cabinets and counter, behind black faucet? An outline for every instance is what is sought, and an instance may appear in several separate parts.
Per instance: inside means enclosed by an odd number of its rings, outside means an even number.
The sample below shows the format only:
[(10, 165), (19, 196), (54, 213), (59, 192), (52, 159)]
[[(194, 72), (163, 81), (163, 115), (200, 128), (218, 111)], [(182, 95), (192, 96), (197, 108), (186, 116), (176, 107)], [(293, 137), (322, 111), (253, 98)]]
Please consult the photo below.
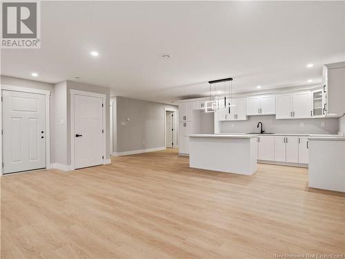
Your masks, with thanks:
[[(259, 128), (257, 128), (258, 122), (264, 124), (264, 130), (268, 133), (337, 134), (339, 131), (338, 118), (275, 119), (275, 115), (259, 115), (248, 116), (246, 121), (219, 122), (219, 132), (259, 132)], [(324, 125), (322, 126), (322, 124)]]

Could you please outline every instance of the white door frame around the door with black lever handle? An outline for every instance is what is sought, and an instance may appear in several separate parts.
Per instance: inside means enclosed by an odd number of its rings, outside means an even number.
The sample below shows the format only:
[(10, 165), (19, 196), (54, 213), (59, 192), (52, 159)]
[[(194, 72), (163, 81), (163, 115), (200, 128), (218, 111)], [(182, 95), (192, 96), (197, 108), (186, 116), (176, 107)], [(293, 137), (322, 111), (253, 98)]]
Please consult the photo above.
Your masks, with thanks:
[(102, 98), (102, 120), (103, 120), (103, 164), (106, 163), (106, 95), (101, 93), (86, 92), (83, 90), (70, 89), (70, 166), (75, 170), (75, 95)]

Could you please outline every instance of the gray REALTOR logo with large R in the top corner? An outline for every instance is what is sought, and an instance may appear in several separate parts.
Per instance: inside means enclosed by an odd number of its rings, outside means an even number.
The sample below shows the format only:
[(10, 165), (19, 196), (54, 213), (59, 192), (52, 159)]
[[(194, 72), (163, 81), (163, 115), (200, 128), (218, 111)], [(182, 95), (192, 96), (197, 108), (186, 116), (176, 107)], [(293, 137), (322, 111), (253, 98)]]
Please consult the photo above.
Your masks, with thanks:
[(39, 2), (2, 3), (2, 48), (40, 48)]

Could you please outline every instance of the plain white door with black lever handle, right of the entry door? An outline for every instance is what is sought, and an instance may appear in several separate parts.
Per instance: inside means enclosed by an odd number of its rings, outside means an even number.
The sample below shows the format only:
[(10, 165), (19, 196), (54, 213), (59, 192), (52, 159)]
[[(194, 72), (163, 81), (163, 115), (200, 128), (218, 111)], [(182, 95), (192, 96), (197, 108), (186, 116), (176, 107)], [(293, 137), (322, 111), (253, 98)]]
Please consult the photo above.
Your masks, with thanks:
[(103, 164), (103, 99), (73, 95), (75, 106), (75, 169)]

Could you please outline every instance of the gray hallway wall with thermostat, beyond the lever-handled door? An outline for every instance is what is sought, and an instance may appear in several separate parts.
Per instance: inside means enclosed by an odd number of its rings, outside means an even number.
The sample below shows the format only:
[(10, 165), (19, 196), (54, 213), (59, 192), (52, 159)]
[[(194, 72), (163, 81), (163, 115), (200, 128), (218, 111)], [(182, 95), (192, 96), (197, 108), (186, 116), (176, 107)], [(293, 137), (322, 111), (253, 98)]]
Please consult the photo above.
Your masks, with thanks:
[[(177, 110), (177, 106), (117, 97), (115, 152), (164, 147), (164, 108)], [(127, 121), (127, 117), (130, 117), (130, 121)]]

